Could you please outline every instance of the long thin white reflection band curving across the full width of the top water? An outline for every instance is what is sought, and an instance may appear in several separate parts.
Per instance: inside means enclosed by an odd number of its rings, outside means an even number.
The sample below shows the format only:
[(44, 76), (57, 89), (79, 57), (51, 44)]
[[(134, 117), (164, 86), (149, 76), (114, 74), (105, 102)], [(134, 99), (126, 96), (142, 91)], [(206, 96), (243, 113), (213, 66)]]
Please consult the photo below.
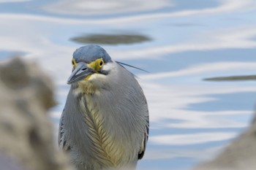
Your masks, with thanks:
[[(252, 9), (255, 7), (255, 1), (253, 0), (219, 0), (220, 4), (217, 7), (211, 7), (208, 9), (187, 9), (181, 10), (178, 12), (159, 12), (154, 14), (146, 14), (146, 15), (133, 15), (133, 16), (124, 16), (124, 17), (114, 17), (108, 19), (94, 19), (94, 20), (79, 20), (79, 19), (68, 19), (68, 18), (57, 18), (57, 17), (48, 17), (43, 15), (28, 15), (28, 14), (18, 14), (13, 15), (10, 13), (1, 13), (0, 18), (5, 19), (17, 19), (20, 20), (37, 20), (43, 22), (54, 22), (54, 23), (64, 23), (64, 24), (113, 24), (113, 23), (141, 23), (147, 20), (159, 20), (164, 18), (181, 18), (181, 17), (191, 17), (192, 15), (219, 15), (225, 12), (237, 12), (237, 11), (244, 11), (247, 9)], [(58, 3), (54, 4), (58, 7)], [(73, 4), (74, 1), (67, 1), (66, 3)], [(60, 3), (62, 7), (62, 2)], [(136, 4), (136, 3), (135, 3)], [(163, 3), (165, 4), (165, 2)], [(52, 4), (53, 5), (53, 4)], [(67, 7), (72, 7), (73, 5), (67, 5)], [(48, 9), (48, 7), (45, 7)], [(80, 8), (80, 7), (79, 7)], [(83, 8), (82, 8), (83, 9)], [(50, 10), (50, 9), (48, 9)], [(81, 9), (77, 9), (80, 11)], [(58, 11), (55, 9), (55, 11)], [(63, 11), (60, 9), (60, 11)], [(112, 12), (112, 11), (111, 11)]]

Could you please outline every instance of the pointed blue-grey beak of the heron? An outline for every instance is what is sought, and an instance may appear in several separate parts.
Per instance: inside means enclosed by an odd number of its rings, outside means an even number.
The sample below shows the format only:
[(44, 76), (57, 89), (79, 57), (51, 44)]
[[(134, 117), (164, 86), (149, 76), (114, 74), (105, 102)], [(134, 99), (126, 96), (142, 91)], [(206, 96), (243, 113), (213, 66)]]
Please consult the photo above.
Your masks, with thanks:
[(89, 68), (86, 63), (77, 63), (75, 69), (67, 80), (67, 84), (70, 85), (74, 82), (78, 82), (79, 80), (83, 80), (91, 74), (94, 74), (94, 70)]

